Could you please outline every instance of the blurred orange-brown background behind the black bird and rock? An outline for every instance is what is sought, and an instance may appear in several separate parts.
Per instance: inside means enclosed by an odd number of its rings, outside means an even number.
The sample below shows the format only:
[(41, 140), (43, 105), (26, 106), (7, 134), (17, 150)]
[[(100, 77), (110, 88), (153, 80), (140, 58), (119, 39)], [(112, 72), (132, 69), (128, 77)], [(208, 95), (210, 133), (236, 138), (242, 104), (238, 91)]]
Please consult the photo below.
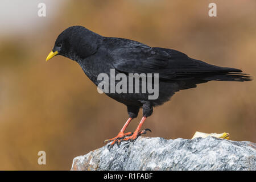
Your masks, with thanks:
[[(46, 3), (46, 17), (38, 3)], [(217, 4), (217, 17), (208, 5)], [(1, 1), (0, 169), (69, 170), (102, 147), (127, 120), (126, 106), (97, 92), (79, 64), (46, 63), (57, 36), (82, 25), (104, 36), (174, 48), (189, 57), (256, 75), (256, 1)], [(256, 85), (217, 82), (176, 93), (156, 107), (150, 137), (192, 138), (196, 131), (256, 142)], [(134, 131), (134, 119), (127, 131)], [(46, 151), (39, 165), (38, 151)]]

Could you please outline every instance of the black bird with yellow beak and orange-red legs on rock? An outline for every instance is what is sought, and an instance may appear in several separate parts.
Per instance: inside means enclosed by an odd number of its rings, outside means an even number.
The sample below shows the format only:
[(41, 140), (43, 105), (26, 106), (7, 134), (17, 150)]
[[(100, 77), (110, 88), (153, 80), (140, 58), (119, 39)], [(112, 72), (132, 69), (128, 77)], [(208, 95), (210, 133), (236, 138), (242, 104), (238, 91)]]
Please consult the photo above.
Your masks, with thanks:
[[(126, 121), (110, 147), (122, 140), (133, 141), (147, 130), (141, 127), (153, 112), (153, 107), (170, 100), (179, 90), (195, 88), (197, 84), (217, 81), (249, 81), (250, 76), (242, 74), (241, 69), (224, 68), (195, 60), (174, 49), (150, 47), (143, 43), (98, 35), (82, 26), (72, 26), (57, 37), (52, 52), (46, 60), (55, 55), (68, 57), (79, 63), (84, 73), (98, 86), (100, 73), (110, 76), (124, 73), (159, 73), (159, 96), (149, 100), (149, 93), (106, 93), (114, 100), (127, 106), (129, 119)], [(125, 133), (131, 119), (136, 118), (139, 109), (143, 109), (143, 118), (134, 133)]]

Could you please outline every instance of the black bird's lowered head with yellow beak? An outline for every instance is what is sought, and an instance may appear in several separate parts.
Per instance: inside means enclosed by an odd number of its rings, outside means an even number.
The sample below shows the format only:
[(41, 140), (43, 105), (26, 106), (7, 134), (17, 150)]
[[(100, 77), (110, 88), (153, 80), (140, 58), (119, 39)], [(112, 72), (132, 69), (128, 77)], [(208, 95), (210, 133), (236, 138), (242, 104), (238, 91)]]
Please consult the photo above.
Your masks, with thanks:
[(97, 50), (100, 35), (82, 26), (72, 26), (61, 32), (57, 37), (52, 51), (46, 61), (55, 55), (68, 57), (69, 59), (84, 59)]

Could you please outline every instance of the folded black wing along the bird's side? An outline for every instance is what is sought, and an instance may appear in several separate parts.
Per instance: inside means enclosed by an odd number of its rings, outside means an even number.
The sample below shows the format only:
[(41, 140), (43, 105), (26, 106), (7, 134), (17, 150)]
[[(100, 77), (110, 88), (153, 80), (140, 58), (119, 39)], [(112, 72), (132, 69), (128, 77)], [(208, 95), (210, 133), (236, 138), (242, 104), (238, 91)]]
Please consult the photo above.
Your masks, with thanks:
[(152, 48), (133, 40), (123, 43), (110, 53), (113, 67), (123, 73), (159, 73), (159, 78), (170, 80), (204, 73), (242, 72), (240, 69), (217, 67), (191, 59), (174, 49)]

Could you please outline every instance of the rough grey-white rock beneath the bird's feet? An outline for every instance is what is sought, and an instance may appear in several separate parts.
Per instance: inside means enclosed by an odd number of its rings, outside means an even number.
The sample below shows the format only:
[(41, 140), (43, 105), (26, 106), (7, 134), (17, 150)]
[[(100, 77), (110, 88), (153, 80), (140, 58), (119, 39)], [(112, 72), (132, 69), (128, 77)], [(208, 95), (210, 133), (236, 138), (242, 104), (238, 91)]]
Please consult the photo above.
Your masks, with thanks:
[(139, 137), (73, 159), (71, 170), (256, 170), (256, 143)]

